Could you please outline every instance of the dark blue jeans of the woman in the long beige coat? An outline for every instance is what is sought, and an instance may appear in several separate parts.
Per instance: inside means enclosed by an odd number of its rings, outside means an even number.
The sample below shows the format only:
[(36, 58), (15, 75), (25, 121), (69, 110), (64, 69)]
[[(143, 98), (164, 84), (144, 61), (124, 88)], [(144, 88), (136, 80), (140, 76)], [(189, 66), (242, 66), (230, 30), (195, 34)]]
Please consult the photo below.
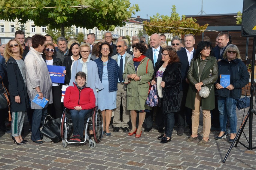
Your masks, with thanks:
[(40, 132), (40, 125), (41, 125), (41, 119), (42, 116), (46, 116), (47, 114), (47, 108), (43, 109), (34, 109), (34, 113), (32, 116), (32, 126), (31, 126), (31, 140), (32, 141), (38, 141), (41, 140), (41, 132)]

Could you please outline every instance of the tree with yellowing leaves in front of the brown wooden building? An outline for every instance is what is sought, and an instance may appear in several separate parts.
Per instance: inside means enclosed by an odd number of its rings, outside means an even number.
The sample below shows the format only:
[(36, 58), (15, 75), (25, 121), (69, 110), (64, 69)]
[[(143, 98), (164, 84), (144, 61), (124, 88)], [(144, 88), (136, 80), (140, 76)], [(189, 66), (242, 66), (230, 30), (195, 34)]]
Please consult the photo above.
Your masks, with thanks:
[[(150, 17), (150, 22), (144, 21), (146, 25), (144, 29), (148, 35), (154, 33), (172, 33), (173, 35), (183, 35), (183, 34), (194, 34), (198, 35), (205, 30), (208, 24), (200, 26), (196, 23), (196, 19), (185, 18), (185, 15), (182, 15), (180, 19), (179, 14), (176, 12), (175, 5), (172, 6), (172, 13), (169, 17), (168, 15), (159, 15), (158, 13), (153, 17)], [(172, 28), (166, 28), (172, 27)], [(178, 28), (193, 28), (193, 29), (178, 29)]]

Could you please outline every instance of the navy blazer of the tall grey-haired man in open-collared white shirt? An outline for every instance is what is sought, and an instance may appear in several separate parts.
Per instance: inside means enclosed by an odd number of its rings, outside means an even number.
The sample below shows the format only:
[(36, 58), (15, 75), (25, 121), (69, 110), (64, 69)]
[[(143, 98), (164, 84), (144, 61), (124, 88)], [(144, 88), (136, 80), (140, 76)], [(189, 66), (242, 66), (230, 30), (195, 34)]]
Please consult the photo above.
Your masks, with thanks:
[[(187, 58), (186, 49), (177, 51), (177, 55), (181, 62), (181, 77), (182, 83), (180, 84), (180, 90), (188, 90), (189, 84), (186, 82), (187, 72), (189, 69), (189, 63)], [(193, 58), (196, 56), (196, 50), (194, 49)]]

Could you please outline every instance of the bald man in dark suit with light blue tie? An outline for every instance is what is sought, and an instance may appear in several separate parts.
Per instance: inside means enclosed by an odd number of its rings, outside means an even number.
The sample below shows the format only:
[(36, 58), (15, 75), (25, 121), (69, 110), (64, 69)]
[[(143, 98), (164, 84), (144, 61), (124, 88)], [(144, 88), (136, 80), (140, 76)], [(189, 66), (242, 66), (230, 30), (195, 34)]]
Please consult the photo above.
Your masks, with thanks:
[[(156, 33), (152, 34), (150, 36), (150, 45), (152, 48), (149, 48), (145, 54), (145, 56), (147, 56), (149, 59), (151, 59), (154, 69), (155, 69), (155, 66), (158, 64), (158, 62), (160, 62), (162, 59), (162, 55), (161, 55), (162, 47), (160, 47), (160, 45), (159, 45), (160, 41), (161, 40), (160, 40), (159, 34), (156, 34)], [(154, 109), (152, 111), (146, 113), (146, 117), (144, 120), (144, 123), (145, 123), (144, 131), (145, 132), (149, 132), (153, 127), (153, 112), (154, 112)], [(160, 113), (157, 113), (156, 126), (158, 129), (161, 129), (161, 132), (163, 132), (163, 126), (164, 126), (163, 118), (161, 118), (161, 116), (159, 116), (159, 115), (160, 115)]]

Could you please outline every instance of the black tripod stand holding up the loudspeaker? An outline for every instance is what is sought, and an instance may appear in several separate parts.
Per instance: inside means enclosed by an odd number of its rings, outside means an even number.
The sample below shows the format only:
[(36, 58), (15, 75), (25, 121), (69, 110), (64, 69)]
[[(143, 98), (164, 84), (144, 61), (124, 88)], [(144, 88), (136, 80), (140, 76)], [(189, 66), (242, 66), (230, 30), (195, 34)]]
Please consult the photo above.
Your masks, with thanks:
[[(239, 143), (242, 146), (244, 146), (245, 148), (247, 148), (248, 150), (253, 150), (253, 149), (256, 148), (256, 147), (252, 147), (252, 116), (253, 116), (253, 114), (255, 114), (255, 110), (253, 109), (253, 96), (254, 96), (254, 85), (255, 85), (255, 83), (254, 83), (255, 45), (256, 45), (256, 37), (253, 38), (252, 63), (251, 63), (251, 65), (252, 65), (251, 73), (252, 74), (251, 74), (250, 108), (249, 108), (249, 111), (248, 111), (247, 115), (245, 116), (245, 118), (242, 122), (242, 125), (240, 126), (240, 129), (238, 130), (238, 132), (236, 134), (236, 137), (234, 138), (229, 150), (227, 151), (227, 154), (226, 154), (225, 158), (222, 161), (224, 163), (226, 162), (226, 159), (227, 159), (227, 157), (228, 157), (228, 155), (229, 155), (229, 153), (230, 153), (230, 151), (231, 151), (231, 149), (232, 149), (232, 147), (234, 146), (235, 143), (236, 144), (235, 144), (234, 147), (237, 147), (237, 144)], [(243, 130), (244, 130), (245, 124), (247, 123), (248, 119), (249, 119), (249, 137), (247, 139)], [(248, 142), (248, 147), (245, 144), (243, 144), (242, 142), (239, 141), (242, 133), (244, 134), (244, 136), (245, 136), (245, 138)]]

